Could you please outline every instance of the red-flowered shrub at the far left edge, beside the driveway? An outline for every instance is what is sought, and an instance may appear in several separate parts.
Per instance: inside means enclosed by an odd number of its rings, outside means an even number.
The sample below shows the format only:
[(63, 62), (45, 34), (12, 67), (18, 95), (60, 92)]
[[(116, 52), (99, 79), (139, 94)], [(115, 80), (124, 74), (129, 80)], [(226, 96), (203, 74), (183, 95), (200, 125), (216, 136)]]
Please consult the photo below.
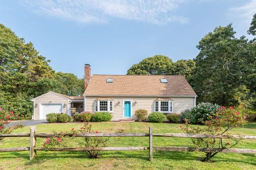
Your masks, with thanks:
[[(1, 111), (2, 111), (2, 109), (0, 108), (0, 115), (2, 115), (0, 118), (0, 134), (10, 134), (13, 130), (23, 127), (22, 124), (8, 126), (8, 124), (11, 122), (13, 112), (9, 112), (7, 114), (2, 114)], [(4, 115), (4, 117), (3, 117), (3, 115)], [(4, 138), (0, 138), (0, 142), (3, 139)]]

